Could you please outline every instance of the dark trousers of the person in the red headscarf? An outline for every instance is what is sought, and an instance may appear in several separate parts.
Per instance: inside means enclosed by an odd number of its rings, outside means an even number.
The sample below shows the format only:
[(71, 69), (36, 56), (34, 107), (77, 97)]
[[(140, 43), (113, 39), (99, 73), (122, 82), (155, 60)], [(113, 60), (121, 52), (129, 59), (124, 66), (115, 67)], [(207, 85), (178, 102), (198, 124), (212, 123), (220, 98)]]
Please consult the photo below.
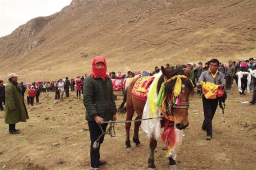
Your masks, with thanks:
[[(89, 131), (90, 131), (90, 138), (91, 138), (91, 167), (92, 168), (99, 168), (99, 161), (100, 161), (100, 148), (101, 144), (103, 143), (104, 136), (101, 137), (99, 141), (99, 147), (97, 149), (93, 148), (94, 142), (99, 138), (101, 135), (101, 129), (96, 124), (95, 121), (88, 121)], [(103, 131), (106, 131), (108, 124), (104, 123), (102, 126)]]

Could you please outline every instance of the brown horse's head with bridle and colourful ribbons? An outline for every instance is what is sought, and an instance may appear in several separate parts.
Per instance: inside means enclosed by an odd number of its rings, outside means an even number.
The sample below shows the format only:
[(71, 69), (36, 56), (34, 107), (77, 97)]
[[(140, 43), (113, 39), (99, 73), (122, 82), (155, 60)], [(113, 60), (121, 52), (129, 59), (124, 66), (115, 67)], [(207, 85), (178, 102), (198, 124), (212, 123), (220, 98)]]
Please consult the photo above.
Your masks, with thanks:
[[(187, 67), (183, 70), (182, 66), (176, 66), (176, 68), (172, 67), (171, 69), (167, 70), (161, 67), (162, 69), (162, 80), (160, 81), (164, 82), (167, 81), (164, 88), (164, 99), (165, 99), (165, 107), (166, 111), (169, 114), (172, 114), (175, 119), (175, 126), (178, 129), (185, 129), (187, 126), (189, 126), (189, 119), (188, 119), (188, 108), (189, 108), (189, 94), (190, 92), (193, 93), (193, 84), (189, 80), (189, 73), (191, 71), (191, 67)], [(177, 78), (172, 80), (172, 77), (183, 75), (183, 78), (180, 78), (181, 80), (181, 92), (180, 92), (180, 105), (175, 106), (173, 105), (171, 101), (172, 94), (174, 92), (175, 84), (177, 82)], [(179, 87), (179, 86), (177, 86)], [(158, 88), (159, 89), (159, 88)]]

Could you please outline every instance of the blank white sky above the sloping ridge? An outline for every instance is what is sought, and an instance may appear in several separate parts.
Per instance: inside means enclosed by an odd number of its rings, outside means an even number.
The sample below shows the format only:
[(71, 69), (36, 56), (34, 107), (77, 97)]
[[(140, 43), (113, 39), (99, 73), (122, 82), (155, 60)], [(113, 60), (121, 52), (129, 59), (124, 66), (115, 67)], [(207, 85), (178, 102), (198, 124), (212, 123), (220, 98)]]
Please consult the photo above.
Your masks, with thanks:
[(0, 0), (0, 37), (6, 36), (30, 19), (48, 16), (72, 0)]

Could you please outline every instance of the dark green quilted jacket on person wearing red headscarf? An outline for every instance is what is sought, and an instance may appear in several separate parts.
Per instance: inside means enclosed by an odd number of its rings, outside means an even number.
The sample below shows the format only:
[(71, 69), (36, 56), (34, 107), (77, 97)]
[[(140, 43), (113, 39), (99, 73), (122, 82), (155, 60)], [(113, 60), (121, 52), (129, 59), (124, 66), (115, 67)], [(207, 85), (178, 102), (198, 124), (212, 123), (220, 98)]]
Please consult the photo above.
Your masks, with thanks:
[(104, 82), (101, 78), (88, 77), (83, 84), (83, 93), (86, 120), (94, 121), (96, 116), (104, 121), (112, 120), (116, 106), (110, 78), (106, 78)]

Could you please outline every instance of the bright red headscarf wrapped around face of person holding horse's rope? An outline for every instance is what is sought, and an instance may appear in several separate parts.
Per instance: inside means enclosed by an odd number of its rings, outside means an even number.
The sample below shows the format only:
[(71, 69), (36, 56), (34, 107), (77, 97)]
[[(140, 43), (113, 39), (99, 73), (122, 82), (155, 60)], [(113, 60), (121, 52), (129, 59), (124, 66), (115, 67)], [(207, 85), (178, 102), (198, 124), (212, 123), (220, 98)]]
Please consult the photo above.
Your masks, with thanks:
[[(100, 62), (104, 63), (105, 68), (96, 68), (95, 67), (95, 65)], [(109, 77), (106, 73), (107, 73), (107, 62), (106, 62), (105, 58), (103, 58), (101, 56), (95, 57), (94, 61), (92, 63), (91, 76), (94, 78), (101, 77), (105, 81), (105, 78)]]

